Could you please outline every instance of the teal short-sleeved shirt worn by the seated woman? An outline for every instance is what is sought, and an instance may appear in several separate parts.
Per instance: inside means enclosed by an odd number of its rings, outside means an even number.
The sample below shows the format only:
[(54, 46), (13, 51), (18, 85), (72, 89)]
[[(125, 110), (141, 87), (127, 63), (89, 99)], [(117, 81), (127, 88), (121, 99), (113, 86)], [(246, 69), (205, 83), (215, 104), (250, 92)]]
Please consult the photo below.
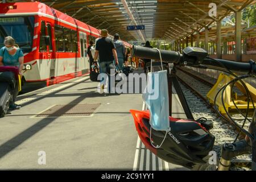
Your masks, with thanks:
[(6, 47), (0, 49), (0, 57), (3, 57), (3, 65), (10, 67), (19, 67), (19, 57), (23, 57), (21, 49), (17, 48), (15, 55), (9, 55)]

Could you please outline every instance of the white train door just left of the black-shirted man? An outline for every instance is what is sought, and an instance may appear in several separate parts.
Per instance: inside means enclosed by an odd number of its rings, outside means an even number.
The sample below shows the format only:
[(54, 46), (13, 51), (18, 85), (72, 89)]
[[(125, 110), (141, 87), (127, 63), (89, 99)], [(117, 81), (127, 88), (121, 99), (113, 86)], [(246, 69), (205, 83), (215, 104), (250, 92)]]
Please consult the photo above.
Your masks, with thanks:
[(84, 32), (79, 32), (80, 38), (80, 55), (81, 55), (81, 71), (85, 74), (89, 71), (89, 62), (87, 57), (87, 35)]

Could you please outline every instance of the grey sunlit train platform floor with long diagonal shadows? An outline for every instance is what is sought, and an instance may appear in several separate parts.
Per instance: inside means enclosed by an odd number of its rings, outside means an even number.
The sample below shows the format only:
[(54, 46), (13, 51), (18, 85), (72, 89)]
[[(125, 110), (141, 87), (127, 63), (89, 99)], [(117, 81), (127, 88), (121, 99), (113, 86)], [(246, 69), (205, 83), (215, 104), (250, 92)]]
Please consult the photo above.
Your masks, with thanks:
[[(142, 109), (142, 94), (100, 94), (97, 84), (82, 76), (18, 96), (22, 109), (0, 119), (0, 169), (186, 169), (139, 140), (129, 110)], [(172, 106), (185, 118), (174, 89)]]

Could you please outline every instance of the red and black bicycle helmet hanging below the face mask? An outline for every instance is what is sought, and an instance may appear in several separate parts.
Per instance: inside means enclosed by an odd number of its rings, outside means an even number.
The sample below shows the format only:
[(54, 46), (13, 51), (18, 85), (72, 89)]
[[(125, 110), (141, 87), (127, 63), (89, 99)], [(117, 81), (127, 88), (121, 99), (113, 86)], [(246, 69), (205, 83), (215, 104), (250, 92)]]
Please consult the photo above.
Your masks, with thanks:
[[(214, 144), (214, 136), (209, 133), (204, 123), (188, 119), (169, 117), (171, 131), (167, 133), (160, 148), (155, 148), (150, 142), (150, 112), (130, 110), (134, 117), (135, 127), (144, 145), (159, 158), (168, 163), (193, 168), (196, 164), (205, 164), (205, 156), (209, 155)], [(151, 141), (154, 146), (160, 146), (166, 131), (152, 129)]]

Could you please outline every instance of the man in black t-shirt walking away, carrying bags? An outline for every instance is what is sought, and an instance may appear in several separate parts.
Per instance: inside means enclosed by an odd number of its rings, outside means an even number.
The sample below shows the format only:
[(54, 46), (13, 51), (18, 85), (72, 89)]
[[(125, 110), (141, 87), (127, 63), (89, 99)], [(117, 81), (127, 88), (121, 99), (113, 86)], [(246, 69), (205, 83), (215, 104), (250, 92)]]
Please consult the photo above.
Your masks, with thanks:
[[(117, 51), (115, 51), (115, 45), (112, 39), (108, 38), (108, 30), (101, 30), (101, 39), (97, 40), (96, 51), (94, 55), (94, 61), (97, 61), (98, 56), (100, 56), (100, 73), (108, 74), (113, 61), (115, 60), (115, 65), (118, 65)], [(108, 92), (110, 93), (110, 74), (108, 74), (109, 83), (108, 83)], [(101, 92), (104, 89), (104, 84), (101, 80)], [(105, 82), (105, 80), (104, 80)]]

